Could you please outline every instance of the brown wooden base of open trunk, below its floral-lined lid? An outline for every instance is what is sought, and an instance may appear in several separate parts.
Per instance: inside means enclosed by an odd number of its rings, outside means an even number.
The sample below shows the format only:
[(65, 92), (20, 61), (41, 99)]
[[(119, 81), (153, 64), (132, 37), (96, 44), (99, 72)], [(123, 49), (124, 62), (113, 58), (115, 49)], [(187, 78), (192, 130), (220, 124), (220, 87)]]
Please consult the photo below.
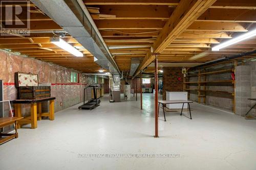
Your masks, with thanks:
[(50, 98), (51, 86), (18, 87), (19, 99), (44, 99)]

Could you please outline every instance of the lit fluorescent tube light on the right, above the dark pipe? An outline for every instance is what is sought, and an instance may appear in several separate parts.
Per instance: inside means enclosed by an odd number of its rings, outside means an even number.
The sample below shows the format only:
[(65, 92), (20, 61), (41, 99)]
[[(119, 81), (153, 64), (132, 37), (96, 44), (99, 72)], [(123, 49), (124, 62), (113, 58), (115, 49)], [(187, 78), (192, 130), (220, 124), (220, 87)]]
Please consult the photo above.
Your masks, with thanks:
[(256, 36), (256, 30), (250, 31), (248, 33), (245, 33), (245, 34), (237, 37), (237, 38), (232, 38), (232, 39), (230, 39), (230, 40), (228, 40), (226, 42), (223, 42), (223, 43), (221, 43), (219, 45), (216, 45), (216, 46), (211, 48), (211, 51), (220, 51), (221, 48), (225, 48), (225, 47), (227, 47), (229, 45), (238, 43), (240, 41), (243, 41), (245, 39), (251, 38), (253, 36)]

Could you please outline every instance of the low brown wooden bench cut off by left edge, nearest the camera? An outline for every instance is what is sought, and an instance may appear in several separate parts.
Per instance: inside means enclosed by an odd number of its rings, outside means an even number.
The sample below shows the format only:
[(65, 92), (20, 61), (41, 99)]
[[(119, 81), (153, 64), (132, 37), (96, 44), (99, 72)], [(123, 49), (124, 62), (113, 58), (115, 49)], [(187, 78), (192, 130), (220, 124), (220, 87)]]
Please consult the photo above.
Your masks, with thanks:
[[(0, 133), (0, 144), (11, 140), (13, 138), (18, 138), (18, 132), (17, 132), (17, 121), (22, 119), (23, 117), (1, 117), (0, 118), (0, 128), (4, 128), (8, 125), (14, 124), (15, 127), (15, 133)], [(7, 136), (2, 138), (3, 136)]]

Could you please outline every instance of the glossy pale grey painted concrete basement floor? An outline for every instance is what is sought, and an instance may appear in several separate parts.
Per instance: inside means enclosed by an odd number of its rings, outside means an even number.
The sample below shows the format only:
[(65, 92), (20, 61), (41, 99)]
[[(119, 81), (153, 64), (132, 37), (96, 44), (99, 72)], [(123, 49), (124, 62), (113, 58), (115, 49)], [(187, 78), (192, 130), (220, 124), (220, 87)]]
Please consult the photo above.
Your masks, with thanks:
[[(78, 106), (20, 129), (0, 145), (0, 169), (256, 169), (256, 121), (193, 104), (193, 120), (168, 112), (154, 135), (154, 97)], [(186, 112), (187, 113), (187, 112)], [(176, 158), (80, 158), (78, 154), (178, 154)], [(113, 155), (116, 156), (116, 155)]]

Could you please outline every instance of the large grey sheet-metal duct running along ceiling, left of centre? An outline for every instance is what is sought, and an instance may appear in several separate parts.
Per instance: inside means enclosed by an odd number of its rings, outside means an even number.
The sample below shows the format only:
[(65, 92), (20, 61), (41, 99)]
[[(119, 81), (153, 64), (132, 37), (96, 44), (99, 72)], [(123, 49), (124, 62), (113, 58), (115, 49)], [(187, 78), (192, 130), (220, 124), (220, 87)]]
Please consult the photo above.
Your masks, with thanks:
[[(120, 75), (117, 64), (111, 56), (84, 4), (77, 0), (31, 0), (45, 14), (51, 17), (60, 27), (74, 37), (98, 60), (102, 68)], [(81, 6), (84, 6), (82, 8)], [(88, 13), (86, 14), (87, 11)], [(91, 16), (90, 16), (91, 17)], [(91, 21), (90, 21), (91, 20)]]

